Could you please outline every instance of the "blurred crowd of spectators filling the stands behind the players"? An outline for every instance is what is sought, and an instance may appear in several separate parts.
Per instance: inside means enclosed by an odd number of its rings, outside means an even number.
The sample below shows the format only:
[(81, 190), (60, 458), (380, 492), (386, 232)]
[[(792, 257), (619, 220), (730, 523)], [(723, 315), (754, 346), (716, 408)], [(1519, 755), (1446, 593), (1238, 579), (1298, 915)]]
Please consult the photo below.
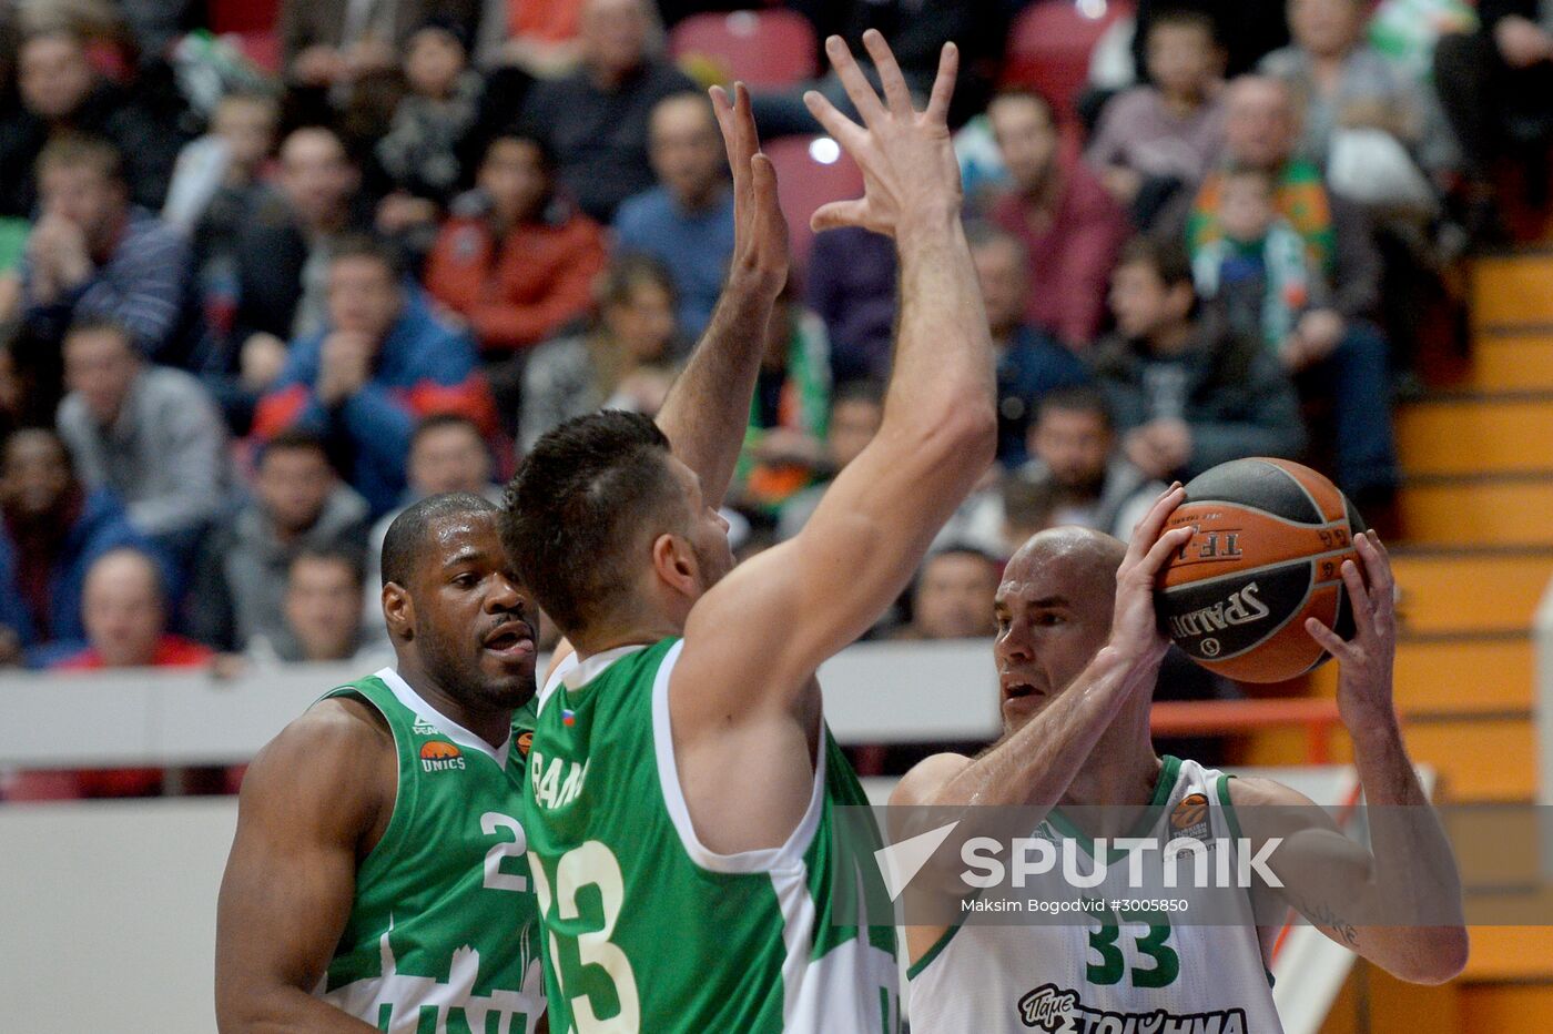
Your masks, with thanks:
[[(3, 5), (0, 661), (384, 657), (398, 509), (494, 494), (570, 416), (654, 411), (707, 326), (733, 202), (705, 85), (753, 76), (763, 137), (798, 155), (784, 199), (846, 165), (801, 102), (845, 101), (828, 33), (879, 28), (918, 85), (960, 43), (999, 348), (999, 461), (879, 638), (991, 635), (1030, 533), (1126, 536), (1162, 483), (1236, 456), (1311, 460), (1384, 520), (1391, 399), (1455, 317), (1452, 270), (1503, 239), (1506, 182), (1545, 202), (1548, 0), (708, 8)], [(1068, 33), (1093, 47), (1059, 95), (1041, 54)], [(891, 242), (794, 244), (742, 554), (867, 446), (890, 368)]]

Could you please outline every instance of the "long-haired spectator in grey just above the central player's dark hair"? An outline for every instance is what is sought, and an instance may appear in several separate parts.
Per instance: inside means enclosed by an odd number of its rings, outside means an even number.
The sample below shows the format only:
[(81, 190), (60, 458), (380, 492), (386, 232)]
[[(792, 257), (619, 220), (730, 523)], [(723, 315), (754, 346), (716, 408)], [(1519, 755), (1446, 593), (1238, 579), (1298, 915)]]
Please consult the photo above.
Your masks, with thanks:
[(599, 408), (657, 413), (683, 345), (674, 324), (674, 279), (643, 255), (615, 259), (599, 284), (598, 321), (585, 334), (534, 349), (523, 370), (519, 444)]

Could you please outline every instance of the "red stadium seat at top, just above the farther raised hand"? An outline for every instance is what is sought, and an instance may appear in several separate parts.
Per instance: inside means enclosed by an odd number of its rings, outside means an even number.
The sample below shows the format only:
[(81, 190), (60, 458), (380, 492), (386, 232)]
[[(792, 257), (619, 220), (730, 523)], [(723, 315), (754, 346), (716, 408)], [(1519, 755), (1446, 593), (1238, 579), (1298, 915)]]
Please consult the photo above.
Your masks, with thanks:
[(669, 53), (676, 61), (711, 61), (727, 79), (752, 87), (792, 85), (818, 73), (814, 26), (795, 11), (696, 14), (669, 33)]

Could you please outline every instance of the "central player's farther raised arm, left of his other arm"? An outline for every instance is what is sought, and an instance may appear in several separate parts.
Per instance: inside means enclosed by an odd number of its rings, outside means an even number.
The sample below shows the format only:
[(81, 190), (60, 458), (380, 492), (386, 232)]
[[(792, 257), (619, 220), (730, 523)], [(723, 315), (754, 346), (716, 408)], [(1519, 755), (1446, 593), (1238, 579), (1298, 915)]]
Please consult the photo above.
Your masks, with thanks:
[(702, 494), (721, 505), (750, 421), (766, 324), (787, 283), (787, 224), (776, 202), (776, 172), (759, 152), (750, 95), (733, 102), (711, 88), (713, 109), (733, 169), (733, 261), (700, 345), (658, 411), (674, 455), (700, 475)]

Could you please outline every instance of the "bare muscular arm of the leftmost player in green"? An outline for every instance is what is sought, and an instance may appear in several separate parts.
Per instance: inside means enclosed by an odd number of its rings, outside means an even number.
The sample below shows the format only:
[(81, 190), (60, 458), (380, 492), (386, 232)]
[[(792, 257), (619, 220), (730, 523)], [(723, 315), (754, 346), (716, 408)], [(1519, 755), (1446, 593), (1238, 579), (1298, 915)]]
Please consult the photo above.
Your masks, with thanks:
[(393, 810), (394, 745), (365, 705), (325, 700), (259, 751), (216, 911), (224, 1034), (376, 1028), (314, 998), (356, 894), (356, 866)]

